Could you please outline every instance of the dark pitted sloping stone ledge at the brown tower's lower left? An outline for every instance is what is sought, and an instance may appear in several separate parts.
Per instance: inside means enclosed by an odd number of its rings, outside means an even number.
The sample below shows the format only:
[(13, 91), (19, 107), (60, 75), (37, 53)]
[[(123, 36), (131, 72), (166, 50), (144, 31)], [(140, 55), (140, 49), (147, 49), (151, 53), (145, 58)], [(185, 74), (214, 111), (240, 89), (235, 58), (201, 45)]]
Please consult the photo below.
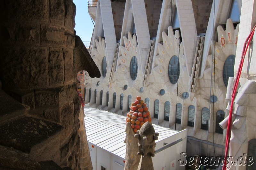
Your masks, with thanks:
[(35, 145), (57, 134), (61, 129), (62, 126), (52, 122), (22, 117), (0, 126), (0, 144), (30, 152)]

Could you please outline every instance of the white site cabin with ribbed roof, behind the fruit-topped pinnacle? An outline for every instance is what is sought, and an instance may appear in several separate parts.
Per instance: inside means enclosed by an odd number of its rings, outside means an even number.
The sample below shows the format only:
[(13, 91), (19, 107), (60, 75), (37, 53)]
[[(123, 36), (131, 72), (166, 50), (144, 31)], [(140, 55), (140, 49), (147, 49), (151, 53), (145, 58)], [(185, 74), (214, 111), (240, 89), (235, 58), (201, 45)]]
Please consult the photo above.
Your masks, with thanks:
[[(93, 107), (84, 108), (84, 123), (93, 170), (124, 170), (126, 117)], [(156, 141), (155, 170), (184, 170), (177, 164), (186, 152), (187, 129), (177, 131), (153, 124)]]

